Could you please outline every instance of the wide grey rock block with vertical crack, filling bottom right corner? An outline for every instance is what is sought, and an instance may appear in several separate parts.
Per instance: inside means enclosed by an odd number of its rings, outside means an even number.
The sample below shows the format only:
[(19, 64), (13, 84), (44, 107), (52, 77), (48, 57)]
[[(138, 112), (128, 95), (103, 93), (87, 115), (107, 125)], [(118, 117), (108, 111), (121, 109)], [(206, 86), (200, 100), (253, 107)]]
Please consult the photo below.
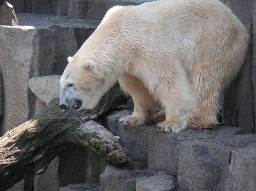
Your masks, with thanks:
[(180, 190), (255, 190), (255, 145), (255, 134), (182, 142), (178, 160)]

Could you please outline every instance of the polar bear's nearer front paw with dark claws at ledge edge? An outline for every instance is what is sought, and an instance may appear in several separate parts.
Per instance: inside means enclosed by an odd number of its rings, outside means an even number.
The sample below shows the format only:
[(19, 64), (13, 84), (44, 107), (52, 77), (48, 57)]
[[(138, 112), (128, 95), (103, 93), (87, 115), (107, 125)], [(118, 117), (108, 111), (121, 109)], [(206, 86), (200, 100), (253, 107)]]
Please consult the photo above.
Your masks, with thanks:
[(180, 131), (183, 131), (186, 129), (187, 125), (186, 123), (182, 121), (164, 121), (156, 125), (157, 131), (165, 131), (165, 132), (174, 132), (179, 133)]

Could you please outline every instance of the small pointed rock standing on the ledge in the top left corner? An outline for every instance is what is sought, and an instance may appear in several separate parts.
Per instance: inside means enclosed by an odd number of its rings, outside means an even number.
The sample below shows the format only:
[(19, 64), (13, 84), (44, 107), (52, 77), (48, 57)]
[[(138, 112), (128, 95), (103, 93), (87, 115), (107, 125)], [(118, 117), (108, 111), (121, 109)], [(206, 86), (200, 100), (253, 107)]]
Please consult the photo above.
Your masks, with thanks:
[(19, 25), (13, 5), (8, 2), (4, 2), (0, 7), (0, 25)]

